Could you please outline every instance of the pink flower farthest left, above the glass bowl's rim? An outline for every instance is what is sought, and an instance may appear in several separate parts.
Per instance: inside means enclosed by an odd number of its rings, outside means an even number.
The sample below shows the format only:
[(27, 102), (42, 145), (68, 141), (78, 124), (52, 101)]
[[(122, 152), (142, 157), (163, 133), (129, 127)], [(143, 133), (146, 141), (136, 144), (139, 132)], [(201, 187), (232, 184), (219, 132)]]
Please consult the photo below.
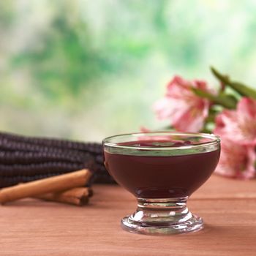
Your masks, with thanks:
[(192, 88), (208, 91), (206, 83), (200, 80), (189, 82), (175, 76), (167, 84), (165, 97), (159, 99), (154, 110), (159, 119), (170, 119), (170, 124), (181, 132), (198, 132), (208, 116), (210, 102), (198, 97)]

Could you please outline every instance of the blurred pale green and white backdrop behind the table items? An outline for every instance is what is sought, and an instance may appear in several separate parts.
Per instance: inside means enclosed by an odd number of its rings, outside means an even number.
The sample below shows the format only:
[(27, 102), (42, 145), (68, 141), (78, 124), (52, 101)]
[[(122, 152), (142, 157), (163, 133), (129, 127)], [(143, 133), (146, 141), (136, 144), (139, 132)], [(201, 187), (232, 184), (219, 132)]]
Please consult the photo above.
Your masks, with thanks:
[(77, 140), (165, 126), (173, 75), (255, 84), (256, 1), (0, 1), (0, 129)]

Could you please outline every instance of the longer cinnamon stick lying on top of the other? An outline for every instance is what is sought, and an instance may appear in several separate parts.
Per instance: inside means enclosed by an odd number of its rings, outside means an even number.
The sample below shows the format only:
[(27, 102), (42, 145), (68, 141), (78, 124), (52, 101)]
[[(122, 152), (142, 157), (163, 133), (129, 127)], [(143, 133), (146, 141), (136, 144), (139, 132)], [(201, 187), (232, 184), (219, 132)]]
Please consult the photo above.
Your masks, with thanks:
[(90, 171), (83, 169), (0, 189), (0, 203), (7, 203), (24, 197), (34, 197), (50, 192), (60, 192), (74, 187), (82, 187), (89, 181), (90, 177)]

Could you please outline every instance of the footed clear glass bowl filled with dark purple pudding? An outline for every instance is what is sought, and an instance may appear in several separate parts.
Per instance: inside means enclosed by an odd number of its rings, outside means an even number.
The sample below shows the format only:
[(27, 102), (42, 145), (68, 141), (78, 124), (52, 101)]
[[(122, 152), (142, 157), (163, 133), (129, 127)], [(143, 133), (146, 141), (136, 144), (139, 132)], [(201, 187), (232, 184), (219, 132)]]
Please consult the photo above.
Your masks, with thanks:
[(203, 219), (188, 210), (187, 200), (217, 166), (217, 136), (132, 133), (105, 138), (103, 150), (110, 175), (138, 200), (135, 213), (121, 220), (125, 230), (158, 235), (203, 228)]

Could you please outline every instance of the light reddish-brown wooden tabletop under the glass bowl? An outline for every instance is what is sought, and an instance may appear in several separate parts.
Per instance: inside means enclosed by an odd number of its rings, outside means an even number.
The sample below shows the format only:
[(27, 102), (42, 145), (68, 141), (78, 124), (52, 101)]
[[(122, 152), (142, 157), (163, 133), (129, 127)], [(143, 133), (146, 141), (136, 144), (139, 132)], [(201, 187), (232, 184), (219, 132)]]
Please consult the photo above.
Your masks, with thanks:
[(212, 176), (189, 200), (206, 228), (176, 236), (121, 230), (135, 198), (121, 187), (94, 186), (91, 204), (20, 200), (0, 207), (0, 255), (256, 255), (256, 181)]

